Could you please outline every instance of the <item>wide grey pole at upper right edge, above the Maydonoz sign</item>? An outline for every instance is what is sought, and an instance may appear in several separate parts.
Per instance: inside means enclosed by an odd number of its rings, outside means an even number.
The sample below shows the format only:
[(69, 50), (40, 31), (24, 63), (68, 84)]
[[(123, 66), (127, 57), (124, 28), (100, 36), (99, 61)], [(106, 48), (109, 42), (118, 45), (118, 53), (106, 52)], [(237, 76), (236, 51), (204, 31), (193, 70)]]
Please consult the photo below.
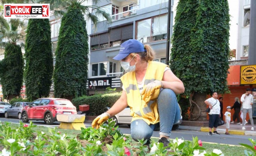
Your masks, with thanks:
[(256, 0), (251, 0), (248, 65), (256, 64)]

